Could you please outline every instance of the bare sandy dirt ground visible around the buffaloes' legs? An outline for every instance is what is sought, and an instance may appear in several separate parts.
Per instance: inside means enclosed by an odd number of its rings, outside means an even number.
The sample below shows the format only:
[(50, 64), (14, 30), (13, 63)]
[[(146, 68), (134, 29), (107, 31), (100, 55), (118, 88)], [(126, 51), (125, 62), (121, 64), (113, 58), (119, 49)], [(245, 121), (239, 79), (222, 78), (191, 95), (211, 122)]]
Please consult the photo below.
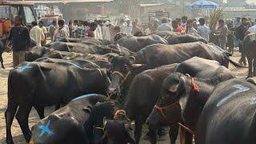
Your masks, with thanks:
[[(234, 59), (235, 62), (238, 62), (240, 58), (240, 54), (238, 53), (238, 50), (235, 51), (234, 56), (232, 59)], [(2, 70), (0, 68), (0, 143), (5, 143), (6, 139), (6, 121), (4, 117), (4, 113), (6, 110), (6, 104), (7, 104), (7, 79), (8, 79), (8, 73), (9, 70), (12, 69), (12, 55), (4, 53), (3, 59), (5, 61), (6, 70)], [(230, 66), (230, 70), (234, 72), (234, 74), (237, 76), (237, 78), (246, 78), (247, 69), (237, 69), (234, 66)], [(53, 112), (53, 108), (46, 108), (46, 115)], [(35, 110), (32, 110), (30, 112), (30, 118), (29, 123), (30, 127), (34, 125), (35, 122), (38, 122), (38, 114), (35, 112)], [(14, 118), (14, 123), (12, 125), (12, 135), (14, 138), (14, 142), (17, 144), (24, 144), (26, 143), (23, 135), (22, 130), (18, 126), (17, 120)], [(144, 133), (146, 129), (143, 129)], [(142, 144), (146, 144), (149, 142), (143, 141)], [(169, 140), (166, 140), (165, 142), (158, 142), (160, 144), (166, 144), (170, 143)], [(176, 142), (179, 143), (179, 142)]]

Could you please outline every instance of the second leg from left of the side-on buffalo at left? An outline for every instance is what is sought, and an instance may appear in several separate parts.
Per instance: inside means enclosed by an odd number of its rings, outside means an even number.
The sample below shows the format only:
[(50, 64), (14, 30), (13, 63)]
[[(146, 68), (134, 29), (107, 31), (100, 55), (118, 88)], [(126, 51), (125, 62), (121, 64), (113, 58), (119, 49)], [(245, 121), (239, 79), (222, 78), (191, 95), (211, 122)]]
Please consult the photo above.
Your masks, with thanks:
[(26, 142), (30, 142), (30, 138), (31, 138), (31, 131), (28, 124), (28, 118), (29, 118), (31, 109), (32, 109), (32, 106), (22, 105), (22, 106), (19, 106), (16, 114), (18, 124), (22, 128), (22, 133), (24, 135), (24, 138), (26, 139)]

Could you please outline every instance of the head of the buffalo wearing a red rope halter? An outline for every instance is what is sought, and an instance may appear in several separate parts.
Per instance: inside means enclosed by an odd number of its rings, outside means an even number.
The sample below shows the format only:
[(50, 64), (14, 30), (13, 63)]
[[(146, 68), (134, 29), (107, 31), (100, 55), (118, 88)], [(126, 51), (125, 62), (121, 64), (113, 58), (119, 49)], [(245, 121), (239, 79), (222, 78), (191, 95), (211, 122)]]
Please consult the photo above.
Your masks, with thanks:
[(161, 96), (148, 118), (150, 129), (175, 124), (183, 120), (190, 94), (190, 76), (170, 74), (162, 83)]

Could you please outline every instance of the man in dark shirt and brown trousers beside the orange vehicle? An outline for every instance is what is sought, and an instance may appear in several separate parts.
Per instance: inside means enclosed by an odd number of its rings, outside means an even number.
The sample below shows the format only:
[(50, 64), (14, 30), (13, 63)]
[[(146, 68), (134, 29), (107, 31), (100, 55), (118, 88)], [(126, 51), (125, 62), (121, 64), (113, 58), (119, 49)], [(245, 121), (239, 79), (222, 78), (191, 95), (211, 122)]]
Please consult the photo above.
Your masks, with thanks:
[(25, 51), (26, 48), (30, 47), (30, 32), (26, 27), (22, 26), (22, 18), (19, 16), (14, 18), (14, 27), (10, 30), (6, 46), (7, 52), (10, 52), (11, 49), (14, 51), (14, 67), (18, 66), (21, 62), (25, 62)]

